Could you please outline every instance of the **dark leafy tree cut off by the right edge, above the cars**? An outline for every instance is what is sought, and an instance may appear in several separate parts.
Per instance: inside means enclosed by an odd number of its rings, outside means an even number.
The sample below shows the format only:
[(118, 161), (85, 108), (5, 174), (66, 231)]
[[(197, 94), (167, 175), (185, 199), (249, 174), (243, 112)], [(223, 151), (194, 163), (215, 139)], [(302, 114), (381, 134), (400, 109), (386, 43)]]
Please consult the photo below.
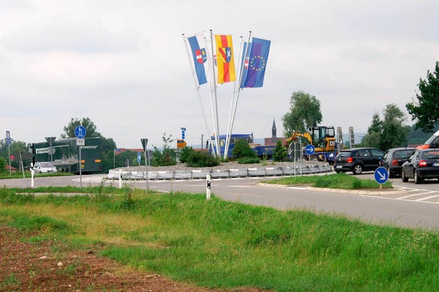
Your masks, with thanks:
[(420, 95), (416, 93), (418, 101), (406, 104), (405, 107), (412, 115), (412, 121), (416, 120), (416, 129), (421, 128), (424, 132), (431, 132), (435, 123), (439, 121), (439, 62), (433, 73), (427, 71), (427, 79), (420, 78), (418, 88)]

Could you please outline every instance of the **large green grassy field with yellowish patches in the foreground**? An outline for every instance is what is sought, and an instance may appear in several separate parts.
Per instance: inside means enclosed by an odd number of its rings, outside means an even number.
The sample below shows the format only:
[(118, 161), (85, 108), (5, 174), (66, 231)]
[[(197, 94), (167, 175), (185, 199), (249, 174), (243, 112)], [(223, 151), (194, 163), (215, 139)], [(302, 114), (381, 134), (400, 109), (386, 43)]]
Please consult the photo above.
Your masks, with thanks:
[[(202, 287), (274, 291), (434, 291), (439, 234), (203, 194), (88, 187), (35, 196), (0, 188), (0, 224), (38, 232)], [(51, 188), (72, 192), (79, 188)], [(25, 193), (31, 193), (27, 195)], [(110, 195), (112, 194), (112, 195)]]

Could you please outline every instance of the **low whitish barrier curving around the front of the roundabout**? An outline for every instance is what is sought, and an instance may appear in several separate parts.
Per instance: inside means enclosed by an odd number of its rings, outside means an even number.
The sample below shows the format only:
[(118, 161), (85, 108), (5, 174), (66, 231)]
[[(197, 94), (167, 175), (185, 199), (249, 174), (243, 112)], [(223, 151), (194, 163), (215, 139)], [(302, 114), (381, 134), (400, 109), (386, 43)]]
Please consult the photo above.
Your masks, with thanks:
[[(110, 180), (119, 179), (121, 171), (122, 180), (145, 180), (145, 171), (123, 171), (110, 169), (107, 178)], [(247, 178), (247, 177), (264, 177), (280, 175), (304, 175), (312, 173), (325, 173), (332, 171), (329, 163), (324, 165), (306, 165), (300, 167), (292, 165), (291, 167), (254, 167), (246, 169), (195, 169), (185, 171), (148, 171), (148, 180), (196, 180), (205, 179), (208, 174), (211, 178)]]

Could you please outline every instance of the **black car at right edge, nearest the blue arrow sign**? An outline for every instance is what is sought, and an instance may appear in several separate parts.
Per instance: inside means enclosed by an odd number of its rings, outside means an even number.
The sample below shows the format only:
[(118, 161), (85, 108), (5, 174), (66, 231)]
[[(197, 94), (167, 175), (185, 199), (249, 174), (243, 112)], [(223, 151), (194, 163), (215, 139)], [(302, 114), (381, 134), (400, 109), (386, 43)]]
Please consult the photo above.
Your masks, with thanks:
[(439, 149), (417, 149), (410, 155), (401, 169), (401, 180), (408, 182), (414, 179), (415, 184), (423, 180), (437, 178), (439, 180)]

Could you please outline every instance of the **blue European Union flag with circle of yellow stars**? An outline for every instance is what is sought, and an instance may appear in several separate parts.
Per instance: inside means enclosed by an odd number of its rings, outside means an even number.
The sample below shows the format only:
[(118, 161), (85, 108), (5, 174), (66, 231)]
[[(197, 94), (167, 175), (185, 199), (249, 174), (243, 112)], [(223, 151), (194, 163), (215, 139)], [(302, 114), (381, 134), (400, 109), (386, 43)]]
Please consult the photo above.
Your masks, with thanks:
[[(270, 40), (263, 40), (262, 38), (252, 39), (250, 43), (250, 55), (248, 56), (248, 69), (244, 67), (244, 81), (241, 82), (241, 88), (263, 86), (263, 77), (265, 75), (265, 68), (267, 67), (270, 43)], [(245, 59), (243, 58), (243, 60)]]

